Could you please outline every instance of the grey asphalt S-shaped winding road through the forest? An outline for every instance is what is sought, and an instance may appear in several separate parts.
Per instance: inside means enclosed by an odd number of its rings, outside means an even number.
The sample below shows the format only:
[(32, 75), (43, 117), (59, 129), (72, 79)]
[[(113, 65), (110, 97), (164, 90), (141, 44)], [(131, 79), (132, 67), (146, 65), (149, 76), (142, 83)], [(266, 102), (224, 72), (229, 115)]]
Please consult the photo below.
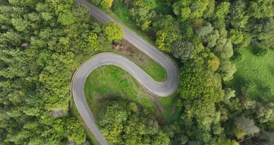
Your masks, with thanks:
[[(86, 2), (85, 0), (76, 0), (76, 2), (79, 4), (87, 5), (92, 16), (102, 23), (106, 23), (107, 21), (115, 21), (107, 14), (105, 14), (95, 6), (91, 5), (90, 3)], [(117, 21), (115, 22), (117, 24), (120, 24)], [(126, 27), (122, 27), (123, 31), (125, 32), (125, 39), (129, 40), (137, 48), (139, 48), (152, 59), (160, 63), (166, 69), (167, 79), (164, 82), (156, 82), (131, 60), (114, 53), (101, 53), (93, 56), (90, 60), (84, 63), (74, 74), (74, 79), (72, 83), (73, 97), (76, 107), (78, 108), (78, 111), (81, 114), (83, 120), (86, 122), (87, 126), (101, 145), (109, 145), (109, 143), (107, 143), (107, 141), (104, 139), (104, 136), (95, 125), (95, 118), (92, 112), (89, 110), (84, 96), (85, 80), (89, 73), (92, 72), (92, 70), (102, 65), (119, 66), (128, 71), (132, 76), (134, 76), (146, 89), (148, 89), (149, 92), (154, 93), (157, 96), (171, 95), (173, 92), (176, 91), (179, 84), (178, 70), (174, 63), (167, 56), (151, 46), (145, 40), (134, 34)]]

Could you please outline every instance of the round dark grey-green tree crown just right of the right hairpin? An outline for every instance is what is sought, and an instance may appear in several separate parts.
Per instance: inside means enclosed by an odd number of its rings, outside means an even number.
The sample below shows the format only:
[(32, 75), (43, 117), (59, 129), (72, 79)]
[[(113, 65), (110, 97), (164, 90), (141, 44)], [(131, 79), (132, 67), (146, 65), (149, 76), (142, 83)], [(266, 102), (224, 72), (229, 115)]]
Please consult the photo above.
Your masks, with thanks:
[(171, 53), (176, 58), (187, 60), (194, 52), (194, 46), (190, 42), (176, 40), (171, 43)]

